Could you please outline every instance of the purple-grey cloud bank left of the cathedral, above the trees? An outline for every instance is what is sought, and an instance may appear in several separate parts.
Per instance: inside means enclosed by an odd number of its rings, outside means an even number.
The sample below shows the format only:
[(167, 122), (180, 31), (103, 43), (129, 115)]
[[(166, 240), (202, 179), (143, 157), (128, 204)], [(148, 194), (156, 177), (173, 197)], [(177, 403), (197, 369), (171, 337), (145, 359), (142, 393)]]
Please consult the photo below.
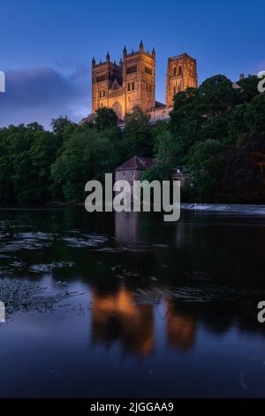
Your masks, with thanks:
[(0, 94), (0, 127), (38, 121), (49, 127), (60, 114), (79, 121), (90, 112), (90, 76), (86, 65), (66, 74), (53, 68), (5, 72), (6, 92)]

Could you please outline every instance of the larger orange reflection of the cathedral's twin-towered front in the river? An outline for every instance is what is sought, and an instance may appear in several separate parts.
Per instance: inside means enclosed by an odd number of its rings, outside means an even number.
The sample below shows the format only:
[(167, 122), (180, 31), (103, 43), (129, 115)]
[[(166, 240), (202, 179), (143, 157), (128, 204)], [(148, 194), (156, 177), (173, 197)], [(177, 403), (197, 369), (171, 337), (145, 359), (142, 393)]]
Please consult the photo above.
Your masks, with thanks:
[(116, 293), (92, 293), (92, 330), (95, 341), (119, 339), (125, 351), (144, 356), (154, 346), (153, 307), (133, 304), (132, 294), (121, 286)]

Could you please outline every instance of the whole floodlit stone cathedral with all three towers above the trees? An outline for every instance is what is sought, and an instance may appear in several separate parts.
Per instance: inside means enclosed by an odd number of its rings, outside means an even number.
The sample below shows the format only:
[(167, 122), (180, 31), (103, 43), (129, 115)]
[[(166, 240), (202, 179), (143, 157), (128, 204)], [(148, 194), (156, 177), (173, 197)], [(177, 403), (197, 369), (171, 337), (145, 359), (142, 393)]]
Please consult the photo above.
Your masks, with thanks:
[[(110, 62), (107, 53), (105, 62), (92, 60), (92, 112), (100, 107), (110, 107), (117, 113), (118, 119), (140, 106), (143, 112), (161, 113), (173, 105), (178, 92), (198, 86), (196, 59), (186, 53), (168, 59), (166, 104), (155, 101), (155, 49), (146, 52), (140, 42), (140, 50), (127, 53), (119, 65)], [(159, 118), (159, 116), (158, 116)]]

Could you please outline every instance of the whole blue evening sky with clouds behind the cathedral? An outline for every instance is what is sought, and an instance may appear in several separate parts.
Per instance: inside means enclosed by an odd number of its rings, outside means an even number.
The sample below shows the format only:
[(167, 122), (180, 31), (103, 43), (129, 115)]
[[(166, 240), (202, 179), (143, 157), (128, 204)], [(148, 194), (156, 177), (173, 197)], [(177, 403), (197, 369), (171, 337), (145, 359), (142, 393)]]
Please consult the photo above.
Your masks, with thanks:
[(121, 57), (126, 44), (156, 50), (156, 99), (164, 102), (167, 58), (186, 51), (199, 81), (265, 70), (264, 0), (130, 2), (1, 0), (0, 127), (91, 112), (91, 59)]

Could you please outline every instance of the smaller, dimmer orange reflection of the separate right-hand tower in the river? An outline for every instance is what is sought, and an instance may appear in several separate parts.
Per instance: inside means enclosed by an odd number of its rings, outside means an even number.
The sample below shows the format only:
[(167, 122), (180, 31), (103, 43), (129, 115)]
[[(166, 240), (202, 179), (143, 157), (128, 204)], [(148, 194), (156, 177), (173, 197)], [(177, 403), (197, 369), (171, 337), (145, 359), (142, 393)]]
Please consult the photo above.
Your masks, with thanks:
[(167, 314), (167, 337), (170, 346), (178, 350), (188, 350), (193, 346), (196, 333), (196, 322), (178, 313), (169, 304)]

